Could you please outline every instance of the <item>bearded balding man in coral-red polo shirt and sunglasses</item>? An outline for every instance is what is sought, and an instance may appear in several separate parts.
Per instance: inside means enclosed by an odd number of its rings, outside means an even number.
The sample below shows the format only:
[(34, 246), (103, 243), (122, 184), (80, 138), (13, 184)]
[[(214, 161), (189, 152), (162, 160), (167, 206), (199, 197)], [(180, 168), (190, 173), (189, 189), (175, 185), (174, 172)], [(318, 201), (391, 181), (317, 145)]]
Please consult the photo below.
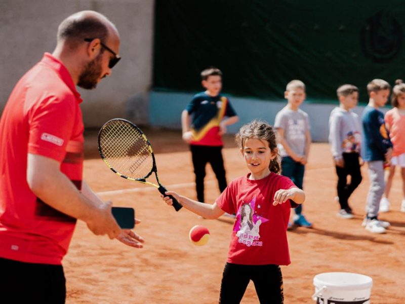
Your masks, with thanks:
[[(82, 102), (118, 62), (119, 34), (103, 15), (83, 11), (58, 28), (52, 54), (17, 83), (0, 120), (0, 272), (2, 298), (64, 303), (62, 258), (76, 219), (95, 235), (141, 248), (83, 181)], [(8, 302), (6, 300), (6, 302)], [(11, 302), (11, 301), (10, 301)]]

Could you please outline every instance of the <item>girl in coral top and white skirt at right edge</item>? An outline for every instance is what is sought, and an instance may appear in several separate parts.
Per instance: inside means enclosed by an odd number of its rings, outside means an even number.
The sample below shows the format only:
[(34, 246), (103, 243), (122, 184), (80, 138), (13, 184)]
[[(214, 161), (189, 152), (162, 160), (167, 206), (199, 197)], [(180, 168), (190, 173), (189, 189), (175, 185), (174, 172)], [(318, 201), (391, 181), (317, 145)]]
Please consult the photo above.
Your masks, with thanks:
[(385, 113), (385, 127), (390, 133), (392, 150), (391, 166), (385, 174), (385, 191), (380, 202), (380, 212), (389, 210), (388, 196), (395, 173), (395, 166), (401, 167), (403, 199), (400, 210), (405, 212), (405, 84), (402, 80), (395, 81), (392, 89), (391, 103), (394, 106)]

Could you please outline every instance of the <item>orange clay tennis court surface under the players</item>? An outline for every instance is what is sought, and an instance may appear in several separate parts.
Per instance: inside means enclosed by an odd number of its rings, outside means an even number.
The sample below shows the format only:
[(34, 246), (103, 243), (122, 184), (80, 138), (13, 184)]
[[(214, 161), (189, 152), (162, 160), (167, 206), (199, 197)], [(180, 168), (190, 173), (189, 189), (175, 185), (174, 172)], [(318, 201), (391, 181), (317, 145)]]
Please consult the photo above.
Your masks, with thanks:
[[(161, 182), (168, 189), (195, 199), (194, 175), (188, 147), (179, 131), (145, 129), (156, 154)], [(114, 175), (97, 154), (96, 133), (87, 136), (84, 176), (104, 200), (115, 206), (136, 209), (142, 220), (135, 231), (145, 239), (143, 249), (127, 247), (107, 237), (96, 237), (84, 222), (78, 222), (63, 264), (67, 280), (67, 303), (216, 303), (227, 256), (232, 224), (198, 218), (184, 208), (176, 213), (159, 197), (154, 187)], [(227, 179), (246, 174), (232, 136), (225, 137), (223, 150)], [(219, 195), (208, 167), (206, 198)], [(405, 302), (405, 213), (399, 212), (401, 180), (393, 182), (387, 234), (374, 235), (361, 227), (369, 181), (354, 192), (354, 219), (336, 216), (336, 174), (329, 145), (313, 143), (306, 167), (304, 212), (313, 229), (288, 232), (292, 263), (282, 267), (285, 303), (315, 303), (313, 277), (323, 272), (353, 272), (373, 278), (371, 302)], [(188, 240), (196, 224), (211, 232), (207, 245), (197, 247)], [(253, 284), (242, 303), (258, 303)]]

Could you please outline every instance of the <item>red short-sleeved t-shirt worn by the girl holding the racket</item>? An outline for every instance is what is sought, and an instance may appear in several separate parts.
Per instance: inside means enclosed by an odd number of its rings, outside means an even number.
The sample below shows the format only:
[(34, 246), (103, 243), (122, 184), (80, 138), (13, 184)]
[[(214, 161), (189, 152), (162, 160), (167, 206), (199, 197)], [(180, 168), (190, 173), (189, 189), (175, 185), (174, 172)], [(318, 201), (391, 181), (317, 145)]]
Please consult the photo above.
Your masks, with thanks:
[(249, 175), (233, 180), (216, 200), (227, 213), (236, 213), (227, 262), (244, 265), (291, 263), (287, 227), (294, 202), (273, 206), (278, 189), (296, 187), (290, 178), (271, 172), (259, 180)]

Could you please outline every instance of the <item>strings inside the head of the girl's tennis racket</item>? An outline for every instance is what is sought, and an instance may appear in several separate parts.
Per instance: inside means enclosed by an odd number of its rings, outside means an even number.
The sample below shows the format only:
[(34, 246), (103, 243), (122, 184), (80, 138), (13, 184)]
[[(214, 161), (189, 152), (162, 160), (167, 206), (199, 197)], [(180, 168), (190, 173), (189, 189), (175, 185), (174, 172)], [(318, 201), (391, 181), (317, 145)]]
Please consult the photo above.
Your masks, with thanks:
[(118, 173), (131, 178), (146, 177), (153, 166), (147, 139), (132, 125), (114, 121), (100, 135), (104, 159)]

